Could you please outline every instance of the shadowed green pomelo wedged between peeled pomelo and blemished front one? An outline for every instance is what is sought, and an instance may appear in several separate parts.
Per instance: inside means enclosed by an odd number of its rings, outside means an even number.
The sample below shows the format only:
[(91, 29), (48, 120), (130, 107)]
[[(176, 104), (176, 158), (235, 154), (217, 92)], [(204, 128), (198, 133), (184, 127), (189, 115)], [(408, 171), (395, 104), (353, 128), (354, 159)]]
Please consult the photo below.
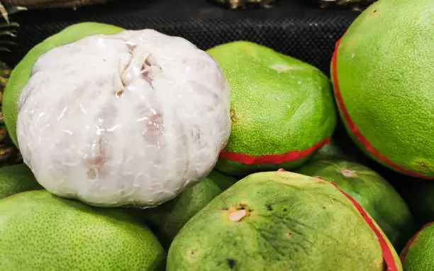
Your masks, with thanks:
[(191, 217), (212, 199), (232, 186), (237, 179), (213, 170), (201, 182), (185, 189), (172, 201), (152, 209), (145, 209), (143, 217), (147, 220), (160, 242), (169, 247), (173, 238)]

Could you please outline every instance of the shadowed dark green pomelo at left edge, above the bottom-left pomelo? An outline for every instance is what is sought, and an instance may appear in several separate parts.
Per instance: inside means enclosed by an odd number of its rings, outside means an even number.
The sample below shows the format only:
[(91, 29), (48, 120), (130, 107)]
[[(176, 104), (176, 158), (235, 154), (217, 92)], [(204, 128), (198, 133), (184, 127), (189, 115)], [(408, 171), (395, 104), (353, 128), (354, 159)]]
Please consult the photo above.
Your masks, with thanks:
[(29, 190), (44, 189), (25, 164), (0, 168), (0, 199)]

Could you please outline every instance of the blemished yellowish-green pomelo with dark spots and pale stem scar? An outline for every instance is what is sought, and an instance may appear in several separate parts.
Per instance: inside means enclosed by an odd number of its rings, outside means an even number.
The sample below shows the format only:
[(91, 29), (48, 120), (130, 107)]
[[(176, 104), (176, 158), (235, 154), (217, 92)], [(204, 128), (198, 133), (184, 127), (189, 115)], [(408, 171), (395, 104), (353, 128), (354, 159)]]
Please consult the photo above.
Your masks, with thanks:
[(333, 184), (280, 171), (249, 175), (218, 195), (179, 231), (167, 254), (167, 271), (336, 267), (384, 270), (377, 236)]

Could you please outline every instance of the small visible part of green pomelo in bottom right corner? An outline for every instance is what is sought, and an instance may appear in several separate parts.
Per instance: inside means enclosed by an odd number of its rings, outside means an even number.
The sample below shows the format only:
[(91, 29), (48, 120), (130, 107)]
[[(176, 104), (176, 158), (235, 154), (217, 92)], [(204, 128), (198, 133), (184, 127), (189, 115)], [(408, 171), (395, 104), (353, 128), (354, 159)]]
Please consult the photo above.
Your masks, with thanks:
[(434, 270), (434, 223), (423, 226), (401, 253), (404, 271)]

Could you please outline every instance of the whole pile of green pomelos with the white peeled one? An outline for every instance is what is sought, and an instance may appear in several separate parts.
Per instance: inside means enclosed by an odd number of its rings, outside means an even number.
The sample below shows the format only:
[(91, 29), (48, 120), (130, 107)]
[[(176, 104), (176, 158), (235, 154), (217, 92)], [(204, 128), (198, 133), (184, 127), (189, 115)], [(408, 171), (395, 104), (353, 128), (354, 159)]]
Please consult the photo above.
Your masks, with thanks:
[(330, 79), (101, 23), (35, 45), (2, 101), (0, 270), (434, 270), (430, 1), (369, 6)]

